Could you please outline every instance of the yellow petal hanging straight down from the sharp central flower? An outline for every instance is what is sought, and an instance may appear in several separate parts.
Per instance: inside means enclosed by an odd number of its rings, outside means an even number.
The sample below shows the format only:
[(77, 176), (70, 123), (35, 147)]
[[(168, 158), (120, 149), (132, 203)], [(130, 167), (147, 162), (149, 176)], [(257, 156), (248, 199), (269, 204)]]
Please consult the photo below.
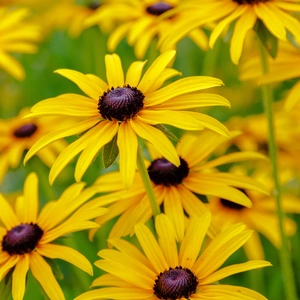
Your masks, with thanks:
[(117, 144), (120, 155), (120, 173), (125, 186), (129, 188), (135, 177), (138, 150), (138, 139), (131, 127), (131, 122), (123, 122), (119, 126)]

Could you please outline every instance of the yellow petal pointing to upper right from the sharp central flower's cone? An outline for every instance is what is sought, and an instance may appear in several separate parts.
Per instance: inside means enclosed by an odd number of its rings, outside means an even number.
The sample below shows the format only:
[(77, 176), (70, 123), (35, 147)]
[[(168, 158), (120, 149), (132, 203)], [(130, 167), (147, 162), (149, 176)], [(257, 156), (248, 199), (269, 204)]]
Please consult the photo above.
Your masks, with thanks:
[(174, 50), (166, 51), (161, 54), (146, 71), (137, 88), (146, 95), (175, 54), (176, 51)]

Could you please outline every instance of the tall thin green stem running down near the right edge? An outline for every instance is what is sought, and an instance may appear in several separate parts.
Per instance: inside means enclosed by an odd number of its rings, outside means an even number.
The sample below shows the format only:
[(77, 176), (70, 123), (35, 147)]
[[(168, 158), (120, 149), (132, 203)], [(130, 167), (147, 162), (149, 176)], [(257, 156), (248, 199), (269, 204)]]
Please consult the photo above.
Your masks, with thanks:
[[(260, 43), (260, 56), (262, 62), (263, 73), (268, 72), (267, 52), (263, 44)], [(269, 156), (272, 164), (273, 180), (274, 180), (274, 196), (277, 206), (277, 215), (279, 223), (279, 231), (281, 236), (281, 249), (279, 250), (280, 264), (282, 269), (282, 278), (287, 300), (297, 300), (295, 287), (295, 279), (291, 263), (291, 255), (289, 252), (289, 241), (284, 232), (284, 212), (281, 204), (281, 186), (279, 183), (278, 166), (277, 166), (277, 145), (275, 140), (274, 118), (273, 118), (273, 95), (270, 85), (262, 86), (262, 96), (264, 101), (265, 114), (268, 119), (269, 130)]]

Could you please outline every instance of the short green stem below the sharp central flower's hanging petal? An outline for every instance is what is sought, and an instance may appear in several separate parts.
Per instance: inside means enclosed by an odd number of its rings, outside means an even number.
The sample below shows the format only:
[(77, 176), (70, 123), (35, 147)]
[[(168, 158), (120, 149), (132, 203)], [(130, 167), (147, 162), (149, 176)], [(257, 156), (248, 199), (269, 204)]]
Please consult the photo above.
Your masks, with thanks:
[(153, 211), (153, 216), (155, 217), (160, 214), (160, 208), (157, 204), (154, 190), (153, 190), (150, 178), (149, 178), (149, 174), (148, 174), (148, 171), (147, 171), (145, 163), (144, 163), (144, 157), (143, 157), (143, 154), (142, 154), (142, 151), (140, 148), (138, 148), (138, 153), (137, 153), (137, 166), (138, 166), (138, 170), (140, 172), (148, 199), (150, 201), (150, 206)]

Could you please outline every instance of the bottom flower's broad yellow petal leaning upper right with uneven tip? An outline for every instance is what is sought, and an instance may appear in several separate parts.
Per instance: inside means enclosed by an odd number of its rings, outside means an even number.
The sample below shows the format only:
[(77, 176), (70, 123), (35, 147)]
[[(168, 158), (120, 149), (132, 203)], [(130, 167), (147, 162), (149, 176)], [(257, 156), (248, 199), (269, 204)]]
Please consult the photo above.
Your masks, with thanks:
[(180, 246), (179, 263), (181, 266), (192, 269), (202, 247), (211, 221), (211, 214), (202, 217), (193, 217)]

